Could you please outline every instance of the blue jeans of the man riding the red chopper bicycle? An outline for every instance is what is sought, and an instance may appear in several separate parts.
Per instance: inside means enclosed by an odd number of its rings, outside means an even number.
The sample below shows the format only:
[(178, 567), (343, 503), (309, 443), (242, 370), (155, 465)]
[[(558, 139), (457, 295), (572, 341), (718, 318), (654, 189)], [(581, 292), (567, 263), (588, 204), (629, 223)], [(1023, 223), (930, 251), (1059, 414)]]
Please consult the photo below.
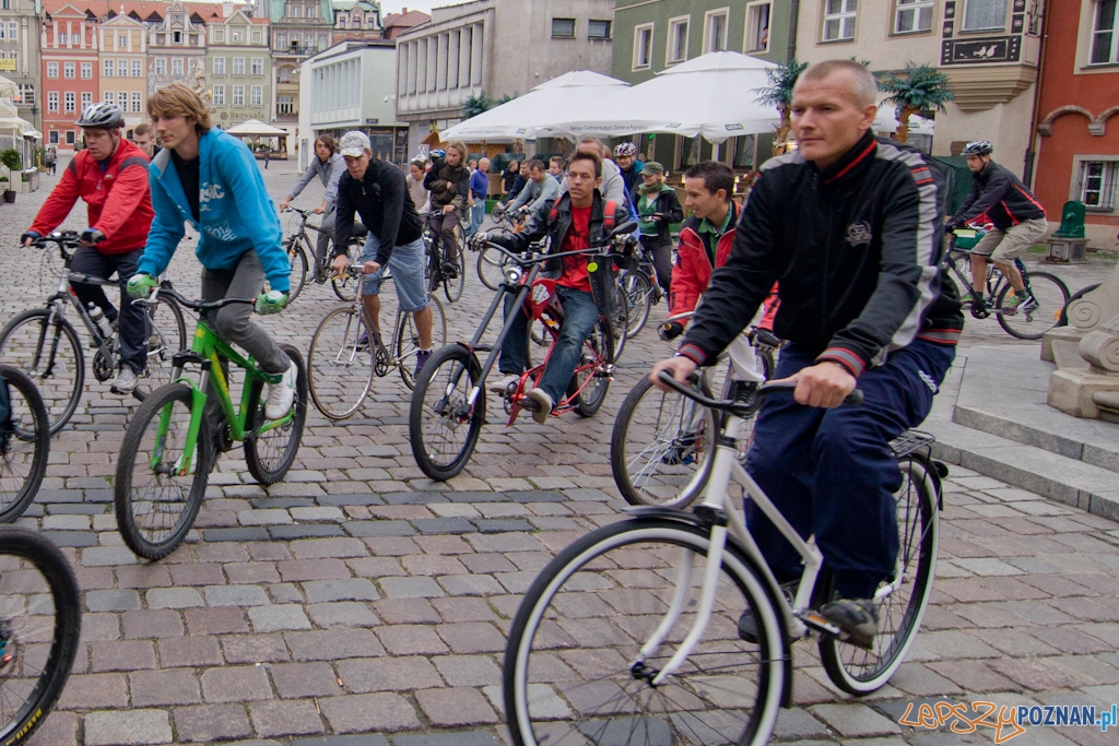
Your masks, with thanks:
[[(563, 327), (560, 330), (560, 341), (552, 351), (544, 375), (536, 388), (552, 397), (555, 404), (567, 393), (567, 384), (575, 375), (575, 366), (583, 357), (583, 344), (599, 322), (599, 309), (594, 305), (591, 294), (582, 290), (561, 287), (556, 293), (563, 303)], [(528, 300), (525, 300), (527, 306)], [(513, 295), (505, 301), (506, 317), (513, 305)], [(528, 317), (524, 311), (517, 311), (509, 328), (509, 334), (501, 344), (501, 359), (498, 369), (502, 374), (520, 375), (528, 369)]]

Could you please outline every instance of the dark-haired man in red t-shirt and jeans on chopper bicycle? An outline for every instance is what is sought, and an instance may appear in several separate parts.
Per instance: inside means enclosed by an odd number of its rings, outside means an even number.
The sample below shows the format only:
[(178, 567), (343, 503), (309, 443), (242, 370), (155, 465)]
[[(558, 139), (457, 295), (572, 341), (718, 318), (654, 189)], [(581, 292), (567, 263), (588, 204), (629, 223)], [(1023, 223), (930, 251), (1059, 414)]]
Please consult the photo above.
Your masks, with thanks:
[[(577, 252), (590, 248), (592, 240), (599, 240), (604, 230), (608, 208), (613, 210), (614, 225), (626, 221), (622, 205), (608, 205), (599, 192), (602, 183), (602, 160), (591, 153), (576, 152), (567, 167), (567, 192), (560, 197), (547, 214), (547, 230), (552, 236), (552, 251)], [(558, 249), (556, 248), (558, 247)], [(558, 402), (567, 384), (575, 374), (575, 366), (582, 356), (583, 343), (605, 313), (602, 308), (608, 301), (604, 292), (595, 292), (592, 282), (611, 272), (609, 262), (596, 262), (598, 267), (589, 272), (589, 256), (565, 256), (551, 261), (547, 270), (558, 272), (556, 293), (563, 303), (563, 329), (560, 341), (536, 388), (528, 391), (528, 398), (536, 405), (533, 419), (544, 424), (555, 403)], [(561, 271), (562, 270), (562, 271)], [(600, 296), (600, 298), (596, 298)], [(508, 313), (508, 309), (506, 311)], [(505, 374), (490, 388), (505, 394), (510, 384), (519, 379), (528, 368), (528, 319), (518, 312), (501, 346), (499, 370)]]

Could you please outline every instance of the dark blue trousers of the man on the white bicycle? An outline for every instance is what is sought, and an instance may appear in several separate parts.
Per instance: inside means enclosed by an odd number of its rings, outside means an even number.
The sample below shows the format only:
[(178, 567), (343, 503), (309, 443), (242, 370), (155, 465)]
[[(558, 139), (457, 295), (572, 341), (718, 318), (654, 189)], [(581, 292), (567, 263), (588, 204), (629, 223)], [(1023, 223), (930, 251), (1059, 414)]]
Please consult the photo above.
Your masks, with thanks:
[[(758, 413), (746, 470), (800, 536), (816, 535), (840, 596), (869, 598), (894, 572), (893, 495), (902, 476), (888, 443), (925, 418), (955, 357), (955, 347), (914, 340), (859, 376), (862, 405), (818, 409), (775, 394)], [(791, 376), (815, 358), (787, 344), (773, 378)], [(792, 545), (753, 506), (747, 519), (777, 578), (800, 577)]]

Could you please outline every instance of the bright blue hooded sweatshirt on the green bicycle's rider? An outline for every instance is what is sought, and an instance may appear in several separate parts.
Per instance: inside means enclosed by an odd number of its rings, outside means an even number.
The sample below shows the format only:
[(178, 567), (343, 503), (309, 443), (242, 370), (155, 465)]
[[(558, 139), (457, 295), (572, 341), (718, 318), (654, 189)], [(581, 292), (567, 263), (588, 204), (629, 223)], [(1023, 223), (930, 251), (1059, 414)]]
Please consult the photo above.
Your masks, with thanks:
[(291, 263), (281, 247), (280, 217), (248, 148), (231, 134), (209, 130), (198, 138), (198, 220), (190, 214), (171, 151), (163, 149), (149, 169), (156, 219), (139, 272), (159, 275), (186, 235), (189, 220), (200, 238), (195, 253), (207, 270), (232, 270), (256, 249), (272, 290), (289, 291)]

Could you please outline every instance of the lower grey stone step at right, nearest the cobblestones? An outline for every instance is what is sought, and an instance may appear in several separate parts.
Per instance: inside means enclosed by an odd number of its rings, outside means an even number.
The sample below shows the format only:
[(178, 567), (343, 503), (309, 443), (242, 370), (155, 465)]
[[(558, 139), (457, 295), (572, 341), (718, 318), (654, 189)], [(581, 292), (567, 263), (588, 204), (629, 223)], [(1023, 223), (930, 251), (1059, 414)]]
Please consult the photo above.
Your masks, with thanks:
[(1119, 520), (1119, 479), (1110, 469), (947, 419), (930, 418), (921, 429), (937, 436), (935, 459)]

